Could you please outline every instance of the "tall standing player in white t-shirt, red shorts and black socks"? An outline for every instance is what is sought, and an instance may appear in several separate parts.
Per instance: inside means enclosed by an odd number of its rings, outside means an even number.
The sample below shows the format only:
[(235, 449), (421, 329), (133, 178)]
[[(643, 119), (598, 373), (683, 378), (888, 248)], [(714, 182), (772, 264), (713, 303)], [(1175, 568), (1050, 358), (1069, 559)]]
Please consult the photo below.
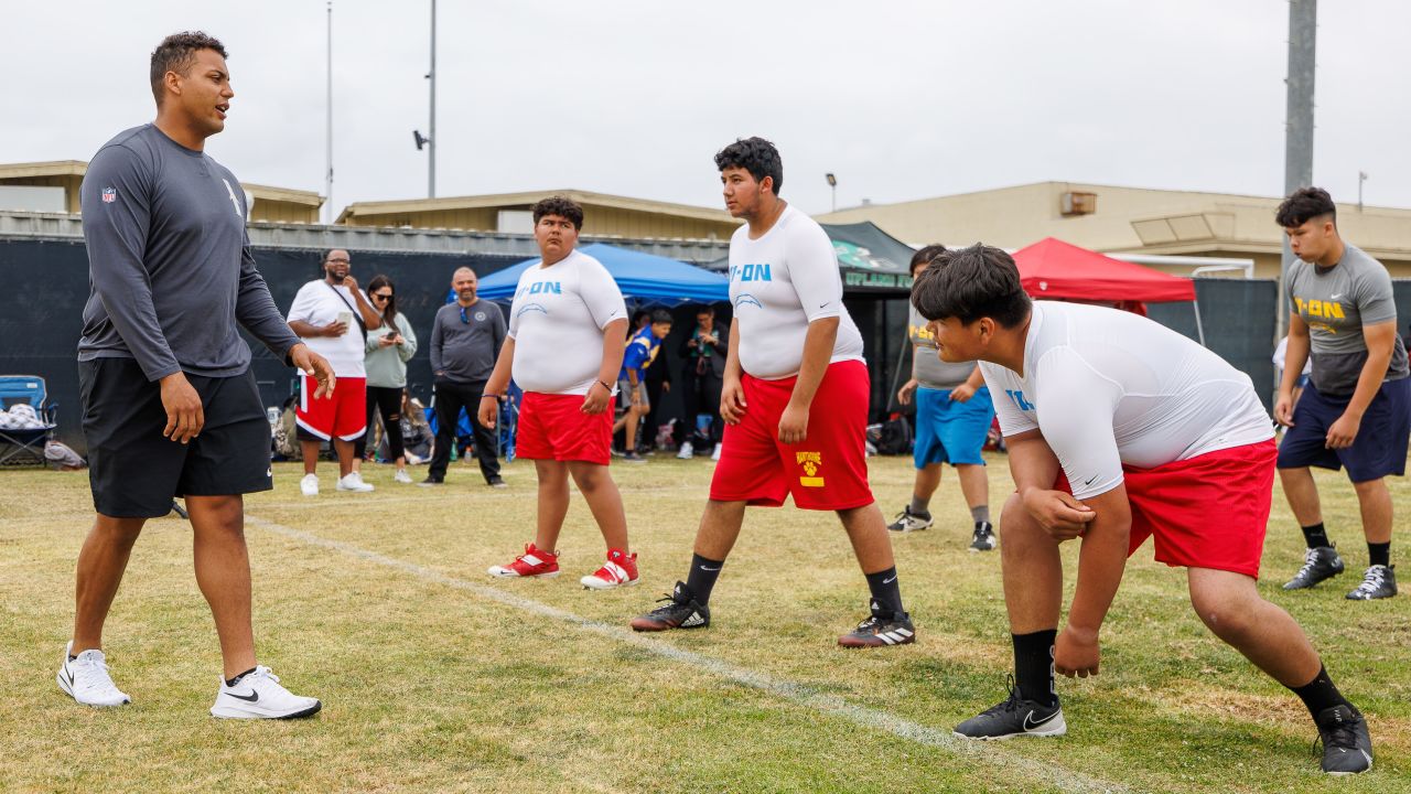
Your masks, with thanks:
[(710, 624), (710, 595), (739, 537), (745, 507), (832, 510), (852, 541), (872, 615), (838, 637), (844, 647), (912, 643), (892, 540), (868, 485), (869, 380), (862, 335), (842, 305), (842, 278), (828, 235), (779, 198), (783, 162), (763, 138), (715, 154), (725, 208), (744, 218), (729, 240), (735, 322), (721, 389), (725, 420), (710, 502), (684, 582), (666, 606), (632, 620), (638, 632)]

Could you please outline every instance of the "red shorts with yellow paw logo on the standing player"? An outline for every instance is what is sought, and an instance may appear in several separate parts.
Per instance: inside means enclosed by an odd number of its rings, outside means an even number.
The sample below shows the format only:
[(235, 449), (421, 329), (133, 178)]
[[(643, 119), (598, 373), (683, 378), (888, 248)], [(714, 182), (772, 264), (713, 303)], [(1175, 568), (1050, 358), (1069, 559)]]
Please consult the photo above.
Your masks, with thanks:
[(828, 365), (809, 408), (809, 435), (803, 444), (789, 445), (779, 442), (779, 417), (794, 380), (744, 377), (745, 418), (725, 425), (710, 497), (779, 507), (792, 493), (804, 510), (872, 504), (864, 446), (871, 397), (866, 365)]

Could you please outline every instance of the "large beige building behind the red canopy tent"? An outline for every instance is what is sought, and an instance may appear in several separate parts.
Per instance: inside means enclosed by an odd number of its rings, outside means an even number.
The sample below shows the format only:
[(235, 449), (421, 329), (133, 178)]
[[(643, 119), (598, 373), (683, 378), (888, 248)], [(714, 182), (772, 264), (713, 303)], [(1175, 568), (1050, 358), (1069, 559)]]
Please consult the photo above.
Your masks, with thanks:
[[(1333, 196), (1336, 198), (1336, 196)], [(1254, 260), (1257, 278), (1277, 278), (1283, 230), (1280, 198), (1036, 182), (899, 203), (840, 209), (823, 223), (871, 220), (912, 243), (968, 246), (976, 240), (1020, 249), (1044, 237), (1109, 254)], [(1411, 278), (1411, 209), (1338, 205), (1345, 240)], [(1139, 260), (1140, 261), (1140, 260)], [(1147, 263), (1187, 274), (1192, 264)]]

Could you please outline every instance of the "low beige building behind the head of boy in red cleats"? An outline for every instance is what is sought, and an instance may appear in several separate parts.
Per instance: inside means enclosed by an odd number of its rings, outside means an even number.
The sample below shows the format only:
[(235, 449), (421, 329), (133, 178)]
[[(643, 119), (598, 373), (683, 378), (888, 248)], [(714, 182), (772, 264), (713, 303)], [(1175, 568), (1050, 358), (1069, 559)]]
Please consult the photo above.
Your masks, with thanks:
[(553, 195), (583, 206), (581, 232), (593, 237), (728, 240), (741, 223), (724, 209), (588, 191), (356, 202), (336, 223), (529, 235), (533, 232), (531, 209), (539, 199)]

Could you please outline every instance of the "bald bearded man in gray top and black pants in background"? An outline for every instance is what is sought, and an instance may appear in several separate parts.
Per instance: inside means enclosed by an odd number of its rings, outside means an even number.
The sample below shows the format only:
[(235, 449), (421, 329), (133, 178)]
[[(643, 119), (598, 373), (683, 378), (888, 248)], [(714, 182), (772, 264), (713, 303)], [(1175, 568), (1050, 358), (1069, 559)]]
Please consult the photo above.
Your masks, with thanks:
[(476, 297), (476, 273), (461, 267), (452, 275), (456, 302), (436, 312), (432, 325), (432, 372), (436, 374), (436, 451), (423, 485), (446, 479), (450, 448), (456, 441), (460, 410), (466, 408), (476, 437), (480, 473), (494, 487), (499, 479), (495, 432), (477, 417), (485, 381), (495, 369), (499, 348), (505, 343), (505, 315), (499, 307)]

